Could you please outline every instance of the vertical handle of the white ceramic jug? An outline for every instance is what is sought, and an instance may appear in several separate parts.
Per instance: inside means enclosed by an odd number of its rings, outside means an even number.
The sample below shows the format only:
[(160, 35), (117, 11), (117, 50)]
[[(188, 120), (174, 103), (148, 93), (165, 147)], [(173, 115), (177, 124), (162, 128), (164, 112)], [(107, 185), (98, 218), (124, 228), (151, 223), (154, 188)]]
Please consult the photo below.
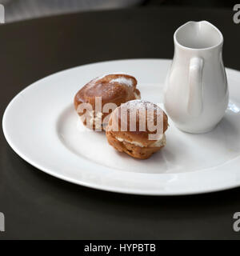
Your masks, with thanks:
[(202, 69), (202, 58), (190, 59), (187, 112), (192, 117), (198, 117), (202, 113)]

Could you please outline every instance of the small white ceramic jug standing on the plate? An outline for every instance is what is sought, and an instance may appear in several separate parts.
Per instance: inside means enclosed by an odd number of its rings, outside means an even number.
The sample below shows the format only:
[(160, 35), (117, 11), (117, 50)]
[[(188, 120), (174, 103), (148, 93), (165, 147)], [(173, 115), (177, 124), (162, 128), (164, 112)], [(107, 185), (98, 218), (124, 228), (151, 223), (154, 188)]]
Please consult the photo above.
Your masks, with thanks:
[(210, 22), (187, 22), (176, 30), (164, 106), (178, 129), (206, 133), (222, 119), (229, 100), (222, 44), (222, 33)]

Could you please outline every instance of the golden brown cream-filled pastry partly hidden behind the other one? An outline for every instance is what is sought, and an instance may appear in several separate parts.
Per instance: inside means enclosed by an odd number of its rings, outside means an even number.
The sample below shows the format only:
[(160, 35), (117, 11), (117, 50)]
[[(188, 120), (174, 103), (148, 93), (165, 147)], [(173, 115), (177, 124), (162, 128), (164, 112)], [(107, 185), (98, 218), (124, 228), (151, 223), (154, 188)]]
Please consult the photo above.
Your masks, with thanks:
[[(83, 124), (93, 130), (104, 129), (112, 110), (121, 103), (141, 98), (137, 83), (136, 78), (128, 74), (108, 74), (83, 86), (74, 98), (75, 109)], [(90, 106), (83, 110), (82, 103)]]

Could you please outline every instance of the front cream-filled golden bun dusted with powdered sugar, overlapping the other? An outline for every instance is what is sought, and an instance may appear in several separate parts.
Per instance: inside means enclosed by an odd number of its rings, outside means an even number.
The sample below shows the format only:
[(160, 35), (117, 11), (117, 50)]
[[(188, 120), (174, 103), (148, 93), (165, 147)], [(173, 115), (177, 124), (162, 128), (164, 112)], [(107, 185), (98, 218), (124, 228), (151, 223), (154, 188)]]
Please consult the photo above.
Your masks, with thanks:
[(146, 159), (166, 145), (167, 127), (168, 118), (160, 107), (134, 100), (122, 104), (110, 115), (106, 138), (116, 150)]

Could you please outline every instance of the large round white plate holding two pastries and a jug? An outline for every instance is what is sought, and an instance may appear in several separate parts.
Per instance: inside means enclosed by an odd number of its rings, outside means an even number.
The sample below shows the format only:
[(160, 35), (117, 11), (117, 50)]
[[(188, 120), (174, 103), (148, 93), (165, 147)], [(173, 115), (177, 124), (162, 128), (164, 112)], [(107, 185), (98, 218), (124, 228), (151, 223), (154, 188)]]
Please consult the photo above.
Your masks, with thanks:
[(127, 194), (180, 195), (240, 186), (240, 72), (226, 69), (230, 106), (209, 134), (174, 127), (167, 145), (148, 160), (120, 154), (104, 133), (86, 130), (74, 111), (77, 91), (101, 74), (124, 72), (138, 79), (142, 98), (162, 102), (170, 60), (100, 62), (62, 71), (35, 82), (7, 107), (7, 142), (31, 165), (82, 186)]

